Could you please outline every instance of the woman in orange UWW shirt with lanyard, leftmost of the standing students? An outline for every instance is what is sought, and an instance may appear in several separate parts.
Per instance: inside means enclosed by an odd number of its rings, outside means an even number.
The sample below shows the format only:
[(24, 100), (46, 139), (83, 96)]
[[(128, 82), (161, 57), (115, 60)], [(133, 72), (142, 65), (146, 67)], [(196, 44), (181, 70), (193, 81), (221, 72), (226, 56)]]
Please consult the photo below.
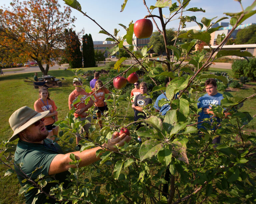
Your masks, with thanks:
[(55, 138), (53, 135), (58, 135), (58, 127), (53, 125), (55, 121), (58, 120), (57, 107), (54, 101), (49, 98), (50, 94), (46, 87), (41, 87), (39, 89), (39, 96), (40, 98), (34, 103), (34, 109), (37, 112), (50, 111), (50, 113), (45, 116), (44, 125), (49, 132), (47, 138), (54, 140)]

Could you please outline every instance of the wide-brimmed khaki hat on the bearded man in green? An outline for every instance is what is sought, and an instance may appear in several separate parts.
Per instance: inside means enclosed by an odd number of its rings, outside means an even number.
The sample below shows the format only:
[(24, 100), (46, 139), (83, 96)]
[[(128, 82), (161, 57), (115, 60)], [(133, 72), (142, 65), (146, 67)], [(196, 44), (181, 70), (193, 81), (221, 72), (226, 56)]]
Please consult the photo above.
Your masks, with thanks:
[(16, 110), (9, 118), (9, 123), (14, 133), (8, 142), (16, 140), (18, 138), (18, 133), (45, 117), (49, 112), (50, 111), (38, 113), (28, 106), (23, 106)]

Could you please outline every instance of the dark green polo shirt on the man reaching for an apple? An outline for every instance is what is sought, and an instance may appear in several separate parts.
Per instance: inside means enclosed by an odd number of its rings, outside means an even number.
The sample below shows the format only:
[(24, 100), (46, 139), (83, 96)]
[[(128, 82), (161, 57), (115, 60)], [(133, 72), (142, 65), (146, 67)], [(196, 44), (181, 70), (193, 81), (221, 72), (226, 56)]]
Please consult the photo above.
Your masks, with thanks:
[[(28, 143), (19, 140), (17, 144), (17, 148), (14, 154), (14, 162), (16, 164), (23, 163), (21, 169), (22, 171), (35, 180), (39, 174), (44, 174), (48, 176), (48, 170), (53, 158), (57, 154), (63, 154), (61, 147), (57, 143), (52, 143), (51, 140), (45, 139), (44, 144), (36, 144), (36, 143)], [(37, 169), (39, 168), (39, 169)], [(35, 170), (37, 169), (37, 170)], [(19, 168), (15, 167), (15, 170), (19, 179), (21, 186), (29, 183), (28, 181), (22, 183), (24, 177), (20, 174), (23, 174)], [(34, 172), (33, 172), (34, 171)], [(68, 171), (64, 171), (62, 173), (54, 174), (49, 176), (51, 180), (59, 180), (59, 183), (64, 182), (66, 185), (68, 181), (66, 179), (66, 175), (68, 175)], [(57, 183), (47, 183), (47, 185), (43, 188), (45, 192), (49, 192), (52, 186), (58, 185)], [(66, 186), (64, 185), (64, 187)], [(38, 192), (38, 188), (33, 188), (27, 193), (25, 193), (26, 203), (32, 203), (36, 193)], [(37, 199), (36, 203), (55, 203), (54, 199), (46, 199), (44, 193), (41, 193)]]

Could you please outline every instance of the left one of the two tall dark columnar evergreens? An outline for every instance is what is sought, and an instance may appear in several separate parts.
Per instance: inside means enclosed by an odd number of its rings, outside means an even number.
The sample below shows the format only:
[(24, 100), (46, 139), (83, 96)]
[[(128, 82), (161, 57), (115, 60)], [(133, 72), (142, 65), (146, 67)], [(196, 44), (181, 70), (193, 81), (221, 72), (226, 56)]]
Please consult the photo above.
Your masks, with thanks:
[(80, 41), (75, 31), (65, 29), (66, 58), (70, 68), (81, 68), (82, 52), (80, 51)]

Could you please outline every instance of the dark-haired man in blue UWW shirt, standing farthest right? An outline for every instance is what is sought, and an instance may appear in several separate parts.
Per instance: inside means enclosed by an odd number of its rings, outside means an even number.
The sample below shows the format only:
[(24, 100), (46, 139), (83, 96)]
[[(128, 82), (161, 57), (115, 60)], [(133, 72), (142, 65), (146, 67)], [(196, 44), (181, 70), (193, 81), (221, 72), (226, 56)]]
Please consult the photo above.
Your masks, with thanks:
[[(202, 111), (199, 113), (198, 122), (202, 122), (204, 118), (212, 117), (214, 115), (213, 111), (210, 111), (212, 105), (220, 105), (220, 102), (223, 99), (223, 95), (217, 91), (217, 82), (215, 79), (210, 78), (205, 81), (205, 91), (206, 94), (201, 96), (197, 103), (197, 108), (202, 108)], [(220, 118), (217, 117), (216, 119), (217, 122), (220, 123)], [(213, 119), (211, 119), (209, 123), (212, 122)], [(199, 123), (197, 128), (204, 128), (204, 126), (202, 126), (202, 123)], [(216, 127), (213, 127), (212, 129), (215, 128)], [(220, 137), (214, 138), (212, 143), (220, 143)]]

